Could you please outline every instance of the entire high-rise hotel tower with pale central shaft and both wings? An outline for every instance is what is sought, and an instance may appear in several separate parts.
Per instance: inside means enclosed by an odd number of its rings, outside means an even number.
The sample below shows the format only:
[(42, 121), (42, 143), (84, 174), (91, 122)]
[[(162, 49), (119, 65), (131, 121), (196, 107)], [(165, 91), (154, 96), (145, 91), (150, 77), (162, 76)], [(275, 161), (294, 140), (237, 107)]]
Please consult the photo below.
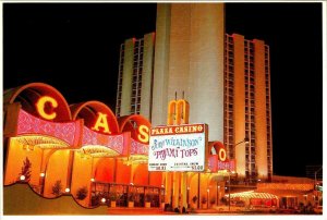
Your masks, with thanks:
[(240, 180), (270, 179), (269, 74), (269, 47), (226, 34), (222, 3), (160, 3), (156, 34), (121, 45), (116, 114), (162, 125), (169, 100), (184, 98), (190, 123), (209, 125)]

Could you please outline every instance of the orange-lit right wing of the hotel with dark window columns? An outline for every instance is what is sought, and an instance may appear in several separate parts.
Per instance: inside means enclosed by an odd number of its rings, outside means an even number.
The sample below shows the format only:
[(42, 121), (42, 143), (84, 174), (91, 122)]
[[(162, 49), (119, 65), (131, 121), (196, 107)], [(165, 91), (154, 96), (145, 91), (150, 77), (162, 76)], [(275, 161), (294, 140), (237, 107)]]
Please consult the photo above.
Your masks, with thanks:
[[(226, 35), (225, 139), (238, 174), (250, 181), (271, 179), (272, 143), (269, 46)], [(247, 139), (243, 145), (240, 140)], [(245, 156), (245, 157), (244, 157)]]

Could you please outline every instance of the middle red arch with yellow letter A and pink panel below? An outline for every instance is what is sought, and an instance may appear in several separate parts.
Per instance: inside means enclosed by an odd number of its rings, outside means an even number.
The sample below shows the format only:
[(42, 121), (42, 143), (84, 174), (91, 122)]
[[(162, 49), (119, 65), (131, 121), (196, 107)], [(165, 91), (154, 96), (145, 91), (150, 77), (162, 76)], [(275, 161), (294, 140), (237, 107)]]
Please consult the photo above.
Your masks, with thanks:
[(117, 119), (109, 107), (99, 101), (71, 106), (73, 120), (83, 119), (82, 147), (78, 152), (93, 157), (126, 156), (128, 135), (119, 132)]

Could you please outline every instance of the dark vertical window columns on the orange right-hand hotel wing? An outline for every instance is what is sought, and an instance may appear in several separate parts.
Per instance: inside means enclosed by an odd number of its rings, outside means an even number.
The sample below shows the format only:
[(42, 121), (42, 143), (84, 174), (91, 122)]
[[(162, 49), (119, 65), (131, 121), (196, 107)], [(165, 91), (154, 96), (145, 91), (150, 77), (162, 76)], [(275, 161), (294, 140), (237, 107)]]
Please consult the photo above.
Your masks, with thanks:
[[(227, 58), (226, 56), (226, 77), (225, 77), (225, 82), (226, 85), (228, 85), (229, 88), (226, 88), (226, 100), (228, 100), (229, 102), (233, 101), (233, 38), (227, 36), (228, 38), (228, 42), (226, 44), (226, 54), (228, 54), (229, 58)], [(266, 72), (266, 97), (267, 97), (267, 107), (270, 107), (269, 105), (269, 63), (268, 63), (268, 53), (269, 53), (269, 48), (268, 46), (265, 46), (265, 72)], [(256, 172), (256, 168), (255, 168), (255, 117), (254, 117), (254, 105), (255, 105), (255, 80), (254, 80), (254, 44), (249, 41), (249, 40), (244, 40), (244, 54), (245, 54), (245, 59), (244, 59), (244, 65), (245, 65), (245, 119), (247, 122), (245, 122), (245, 136), (250, 137), (250, 145), (246, 148), (246, 174), (249, 175), (253, 175)], [(250, 77), (249, 77), (250, 76)], [(249, 85), (250, 85), (250, 97), (249, 97)], [(251, 111), (249, 112), (249, 100), (251, 103)], [(227, 108), (228, 107), (228, 108)], [(228, 103), (226, 105), (226, 115), (228, 115), (229, 120), (226, 120), (226, 125), (228, 124), (232, 124), (232, 114), (233, 114), (233, 109), (232, 109), (233, 105), (232, 103)], [(250, 115), (247, 115), (249, 113), (251, 113)], [(269, 108), (267, 108), (267, 127), (270, 129), (270, 111)], [(250, 118), (249, 118), (250, 117)], [(250, 121), (249, 121), (250, 120)], [(249, 123), (250, 122), (250, 123)], [(226, 143), (229, 149), (233, 149), (233, 127), (232, 129), (228, 129), (228, 126), (225, 126), (226, 130)], [(228, 132), (227, 132), (228, 131)], [(270, 131), (270, 130), (268, 130)], [(270, 132), (268, 132), (267, 134), (267, 145), (268, 145), (268, 174), (271, 175), (271, 157), (270, 157)], [(252, 146), (252, 147), (251, 147)], [(231, 150), (232, 151), (232, 150)], [(232, 152), (230, 155), (233, 155)], [(251, 158), (251, 159), (250, 159)]]

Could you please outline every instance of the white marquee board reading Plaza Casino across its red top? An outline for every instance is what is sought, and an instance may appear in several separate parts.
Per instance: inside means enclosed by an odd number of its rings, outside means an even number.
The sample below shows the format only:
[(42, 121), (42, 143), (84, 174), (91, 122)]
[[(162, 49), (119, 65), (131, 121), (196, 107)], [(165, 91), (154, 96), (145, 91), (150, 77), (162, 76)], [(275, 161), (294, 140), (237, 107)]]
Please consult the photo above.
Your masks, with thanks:
[(206, 143), (206, 124), (152, 127), (148, 170), (204, 171)]

